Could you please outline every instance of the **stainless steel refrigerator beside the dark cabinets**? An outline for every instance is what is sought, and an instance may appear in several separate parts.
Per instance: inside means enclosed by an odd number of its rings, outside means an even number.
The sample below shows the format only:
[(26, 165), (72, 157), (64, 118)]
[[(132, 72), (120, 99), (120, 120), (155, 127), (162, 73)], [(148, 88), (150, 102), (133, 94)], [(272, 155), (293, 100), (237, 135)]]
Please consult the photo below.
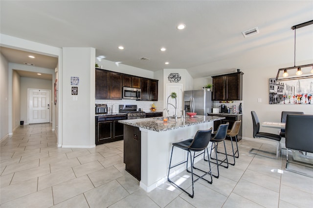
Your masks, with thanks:
[(184, 91), (184, 109), (186, 112), (195, 112), (205, 115), (212, 112), (212, 92), (206, 89)]

